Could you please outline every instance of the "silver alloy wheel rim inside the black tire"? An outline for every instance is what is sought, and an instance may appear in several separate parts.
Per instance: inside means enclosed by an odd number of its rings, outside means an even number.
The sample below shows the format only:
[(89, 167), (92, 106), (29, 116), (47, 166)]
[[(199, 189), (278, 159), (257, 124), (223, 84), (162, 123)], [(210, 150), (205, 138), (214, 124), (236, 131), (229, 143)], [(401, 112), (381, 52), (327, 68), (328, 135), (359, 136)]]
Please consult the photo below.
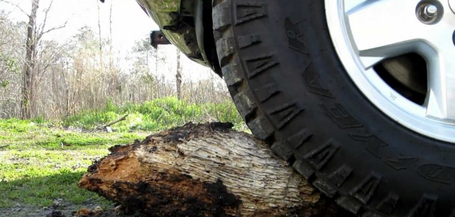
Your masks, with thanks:
[[(325, 0), (325, 9), (336, 53), (362, 94), (401, 125), (454, 143), (455, 13), (449, 1)], [(409, 53), (427, 64), (422, 104), (402, 96), (375, 68)]]

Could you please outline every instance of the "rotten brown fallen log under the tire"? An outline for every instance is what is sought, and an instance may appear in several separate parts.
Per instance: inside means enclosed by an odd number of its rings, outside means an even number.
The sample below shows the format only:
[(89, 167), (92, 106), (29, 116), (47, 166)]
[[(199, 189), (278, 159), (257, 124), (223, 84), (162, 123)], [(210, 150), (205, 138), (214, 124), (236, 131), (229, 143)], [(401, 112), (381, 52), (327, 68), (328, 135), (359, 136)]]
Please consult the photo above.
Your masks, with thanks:
[[(232, 125), (232, 124), (231, 124)], [(321, 196), (269, 146), (223, 123), (186, 124), (114, 146), (79, 187), (154, 217), (330, 217)]]

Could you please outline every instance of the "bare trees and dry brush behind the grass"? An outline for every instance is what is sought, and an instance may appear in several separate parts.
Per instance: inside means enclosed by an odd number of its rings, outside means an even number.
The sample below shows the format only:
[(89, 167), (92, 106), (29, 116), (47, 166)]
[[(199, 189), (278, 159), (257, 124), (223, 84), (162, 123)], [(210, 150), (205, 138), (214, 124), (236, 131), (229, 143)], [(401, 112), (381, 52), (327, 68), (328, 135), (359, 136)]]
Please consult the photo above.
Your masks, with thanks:
[[(182, 79), (186, 69), (180, 61), (185, 57), (176, 49), (177, 59), (168, 58), (150, 45), (149, 36), (136, 41), (127, 57), (115, 55), (113, 1), (103, 5), (110, 7), (107, 38), (102, 37), (98, 16), (98, 29), (82, 27), (65, 43), (44, 37), (66, 27), (64, 20), (58, 26), (46, 25), (53, 1), (40, 4), (40, 0), (30, 0), (30, 11), (15, 1), (0, 1), (28, 17), (28, 22), (10, 20), (11, 12), (0, 9), (0, 118), (60, 119), (102, 109), (108, 101), (122, 105), (168, 96), (195, 103), (229, 99), (216, 75), (196, 81)], [(126, 67), (121, 65), (125, 59)], [(171, 67), (175, 65), (178, 67)], [(169, 79), (163, 73), (175, 76)]]

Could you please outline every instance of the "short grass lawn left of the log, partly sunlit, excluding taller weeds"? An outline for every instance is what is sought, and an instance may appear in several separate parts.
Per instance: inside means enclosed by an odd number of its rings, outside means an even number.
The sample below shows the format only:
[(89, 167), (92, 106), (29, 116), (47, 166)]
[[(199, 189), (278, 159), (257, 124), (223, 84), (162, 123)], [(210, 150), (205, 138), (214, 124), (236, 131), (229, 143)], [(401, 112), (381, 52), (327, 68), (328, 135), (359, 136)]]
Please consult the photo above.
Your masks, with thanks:
[(109, 202), (77, 183), (108, 148), (143, 139), (145, 132), (79, 133), (32, 121), (0, 119), (0, 207), (51, 206), (62, 198), (74, 205)]

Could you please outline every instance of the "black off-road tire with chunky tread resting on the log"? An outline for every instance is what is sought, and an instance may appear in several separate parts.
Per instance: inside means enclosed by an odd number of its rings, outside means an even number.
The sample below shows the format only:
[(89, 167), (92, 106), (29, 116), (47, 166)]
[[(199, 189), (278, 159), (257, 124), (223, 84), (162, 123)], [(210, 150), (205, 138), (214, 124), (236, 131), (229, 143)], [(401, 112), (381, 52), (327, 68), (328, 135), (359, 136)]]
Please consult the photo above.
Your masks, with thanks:
[(214, 0), (218, 60), (258, 138), (363, 217), (455, 217), (455, 145), (382, 114), (330, 39), (323, 0)]

